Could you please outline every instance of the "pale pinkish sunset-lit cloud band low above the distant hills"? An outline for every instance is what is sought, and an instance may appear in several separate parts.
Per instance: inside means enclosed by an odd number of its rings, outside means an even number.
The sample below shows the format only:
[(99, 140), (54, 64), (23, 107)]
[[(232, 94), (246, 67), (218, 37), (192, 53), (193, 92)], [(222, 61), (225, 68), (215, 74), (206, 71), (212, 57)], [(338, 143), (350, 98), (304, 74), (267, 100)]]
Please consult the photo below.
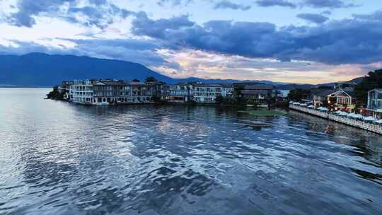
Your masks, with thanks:
[[(175, 78), (195, 76), (204, 79), (227, 79), (229, 77), (239, 80), (328, 83), (363, 76), (365, 71), (371, 70), (364, 69), (364, 66), (361, 65), (333, 66), (303, 61), (280, 62), (274, 59), (228, 56), (195, 50), (161, 50), (161, 53), (168, 61), (178, 62), (180, 68), (171, 69), (155, 66), (153, 69)], [(369, 66), (378, 67), (376, 65)], [(307, 73), (309, 76), (306, 76)]]

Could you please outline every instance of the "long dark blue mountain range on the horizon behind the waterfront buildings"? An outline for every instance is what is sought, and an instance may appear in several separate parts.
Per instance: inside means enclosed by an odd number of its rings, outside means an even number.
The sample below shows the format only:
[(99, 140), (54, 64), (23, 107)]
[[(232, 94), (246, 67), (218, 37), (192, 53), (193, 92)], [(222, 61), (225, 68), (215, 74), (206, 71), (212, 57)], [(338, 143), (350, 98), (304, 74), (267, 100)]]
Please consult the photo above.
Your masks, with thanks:
[[(64, 80), (74, 79), (139, 79), (153, 76), (166, 83), (203, 82), (233, 83), (233, 79), (173, 79), (159, 74), (144, 65), (115, 59), (98, 59), (74, 55), (45, 54), (33, 52), (24, 55), (0, 55), (0, 86), (55, 86)], [(248, 80), (249, 81), (249, 80)], [(253, 80), (252, 80), (253, 81)], [(257, 81), (279, 88), (311, 88), (311, 84), (290, 84)], [(326, 85), (330, 85), (328, 83)]]

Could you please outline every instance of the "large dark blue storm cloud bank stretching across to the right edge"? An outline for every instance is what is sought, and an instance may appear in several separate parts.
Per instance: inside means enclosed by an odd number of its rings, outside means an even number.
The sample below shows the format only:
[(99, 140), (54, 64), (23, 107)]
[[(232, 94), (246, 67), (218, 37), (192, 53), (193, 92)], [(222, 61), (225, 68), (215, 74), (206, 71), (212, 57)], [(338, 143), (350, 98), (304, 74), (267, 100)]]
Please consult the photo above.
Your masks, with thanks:
[(326, 64), (382, 60), (382, 21), (345, 19), (318, 26), (276, 28), (273, 23), (209, 21), (198, 25), (187, 16), (133, 22), (132, 33), (157, 39), (163, 47), (191, 48), (244, 57), (270, 57)]

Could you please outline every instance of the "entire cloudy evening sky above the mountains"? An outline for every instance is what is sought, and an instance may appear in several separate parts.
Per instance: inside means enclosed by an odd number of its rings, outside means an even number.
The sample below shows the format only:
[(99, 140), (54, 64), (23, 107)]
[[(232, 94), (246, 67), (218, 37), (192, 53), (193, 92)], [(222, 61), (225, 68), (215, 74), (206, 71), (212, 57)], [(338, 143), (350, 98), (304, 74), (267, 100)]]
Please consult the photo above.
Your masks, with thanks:
[(382, 68), (382, 1), (0, 0), (0, 54), (29, 52), (173, 78), (347, 81)]

